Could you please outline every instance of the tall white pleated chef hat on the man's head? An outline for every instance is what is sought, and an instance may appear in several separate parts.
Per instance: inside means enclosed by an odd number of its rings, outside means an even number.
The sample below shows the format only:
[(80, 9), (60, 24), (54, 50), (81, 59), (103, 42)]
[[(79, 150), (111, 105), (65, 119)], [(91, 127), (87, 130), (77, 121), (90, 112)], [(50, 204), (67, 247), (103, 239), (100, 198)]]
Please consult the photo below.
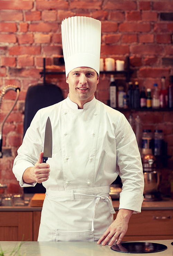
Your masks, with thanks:
[(69, 17), (62, 21), (62, 46), (66, 77), (78, 67), (100, 70), (101, 22), (90, 17)]

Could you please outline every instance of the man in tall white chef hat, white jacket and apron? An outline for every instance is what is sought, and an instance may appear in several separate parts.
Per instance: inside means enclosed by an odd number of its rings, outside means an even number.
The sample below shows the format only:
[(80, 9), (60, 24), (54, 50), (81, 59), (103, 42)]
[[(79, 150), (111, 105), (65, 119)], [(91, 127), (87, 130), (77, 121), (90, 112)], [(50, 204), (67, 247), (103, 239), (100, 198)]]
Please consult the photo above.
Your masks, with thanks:
[[(143, 202), (144, 178), (135, 138), (125, 116), (94, 97), (99, 82), (101, 22), (71, 17), (62, 22), (68, 97), (39, 110), (13, 164), (21, 187), (43, 183), (46, 196), (38, 241), (98, 241), (124, 237)], [(39, 100), (39, 99), (38, 99)], [(53, 154), (42, 163), (47, 118)], [(122, 180), (117, 218), (110, 184)]]

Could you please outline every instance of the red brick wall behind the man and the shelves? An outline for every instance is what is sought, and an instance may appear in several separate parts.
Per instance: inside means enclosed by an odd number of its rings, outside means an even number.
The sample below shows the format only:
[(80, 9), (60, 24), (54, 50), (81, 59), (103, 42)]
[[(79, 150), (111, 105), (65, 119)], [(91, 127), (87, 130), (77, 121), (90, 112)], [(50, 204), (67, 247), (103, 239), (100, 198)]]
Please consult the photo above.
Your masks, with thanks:
[[(140, 87), (151, 88), (154, 83), (161, 86), (161, 76), (165, 76), (168, 83), (169, 76), (173, 75), (172, 13), (172, 0), (0, 0), (0, 89), (8, 84), (21, 88), (17, 105), (3, 129), (6, 155), (0, 160), (1, 182), (15, 181), (11, 168), (22, 141), (27, 89), (43, 81), (39, 74), (43, 57), (48, 66), (62, 57), (62, 19), (83, 15), (101, 20), (101, 57), (126, 60), (129, 56), (130, 68), (134, 71), (131, 81), (138, 80)], [(64, 76), (46, 79), (60, 86), (66, 97), (68, 86)], [(104, 103), (109, 98), (109, 79), (109, 76), (100, 76), (95, 94)], [(13, 91), (5, 95), (0, 122), (15, 97)], [(168, 154), (173, 157), (173, 112), (134, 112), (133, 117), (137, 114), (142, 128), (163, 129)], [(129, 113), (126, 116), (128, 118)]]

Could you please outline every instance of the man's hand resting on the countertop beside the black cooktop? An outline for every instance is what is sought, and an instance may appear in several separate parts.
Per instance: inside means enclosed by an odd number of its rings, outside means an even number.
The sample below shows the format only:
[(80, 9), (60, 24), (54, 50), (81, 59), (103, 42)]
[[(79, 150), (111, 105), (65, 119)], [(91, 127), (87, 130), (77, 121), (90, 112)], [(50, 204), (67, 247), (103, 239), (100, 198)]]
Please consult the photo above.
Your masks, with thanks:
[(106, 245), (111, 238), (108, 245), (112, 245), (116, 239), (118, 239), (117, 244), (119, 244), (127, 232), (128, 222), (132, 213), (133, 211), (131, 210), (120, 209), (115, 221), (109, 226), (106, 232), (104, 232), (97, 244), (101, 244), (103, 241), (102, 245)]

